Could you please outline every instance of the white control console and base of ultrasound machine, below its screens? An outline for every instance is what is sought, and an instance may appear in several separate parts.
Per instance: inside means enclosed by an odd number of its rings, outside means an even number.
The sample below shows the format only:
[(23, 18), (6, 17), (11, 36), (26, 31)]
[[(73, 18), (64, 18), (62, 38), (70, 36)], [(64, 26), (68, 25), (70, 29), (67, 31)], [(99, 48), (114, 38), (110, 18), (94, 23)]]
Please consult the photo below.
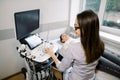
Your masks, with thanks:
[(47, 41), (42, 41), (32, 50), (28, 44), (21, 44), (20, 47), (17, 47), (17, 51), (25, 60), (26, 80), (52, 80), (51, 67), (53, 60), (44, 52), (45, 47), (51, 48), (58, 56), (58, 46)]

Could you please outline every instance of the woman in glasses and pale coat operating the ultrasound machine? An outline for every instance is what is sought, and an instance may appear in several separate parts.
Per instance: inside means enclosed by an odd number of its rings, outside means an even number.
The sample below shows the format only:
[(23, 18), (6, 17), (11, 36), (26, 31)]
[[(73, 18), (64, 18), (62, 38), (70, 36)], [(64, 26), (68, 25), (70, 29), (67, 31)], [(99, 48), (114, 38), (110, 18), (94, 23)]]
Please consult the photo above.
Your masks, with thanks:
[(74, 28), (80, 42), (72, 43), (61, 61), (50, 48), (45, 51), (52, 57), (58, 70), (64, 72), (72, 66), (67, 80), (94, 80), (96, 65), (104, 51), (104, 43), (99, 35), (98, 16), (92, 10), (79, 13)]

